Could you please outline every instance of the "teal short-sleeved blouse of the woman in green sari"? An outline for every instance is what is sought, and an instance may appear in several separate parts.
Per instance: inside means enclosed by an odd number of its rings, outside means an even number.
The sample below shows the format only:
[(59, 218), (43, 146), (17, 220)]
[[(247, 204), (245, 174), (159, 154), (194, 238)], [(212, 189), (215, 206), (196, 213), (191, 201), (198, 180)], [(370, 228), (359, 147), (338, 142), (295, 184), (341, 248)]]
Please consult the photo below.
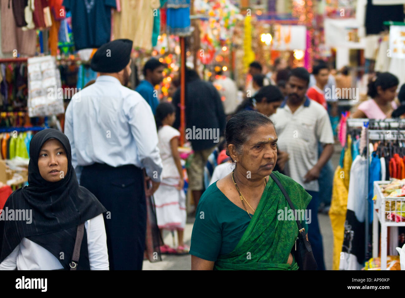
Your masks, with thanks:
[[(254, 217), (254, 214), (250, 214)], [(277, 214), (275, 214), (277, 216)], [(250, 223), (247, 212), (232, 203), (211, 184), (200, 198), (191, 236), (190, 254), (215, 262), (218, 255), (232, 252)], [(307, 233), (308, 226), (301, 222)]]

